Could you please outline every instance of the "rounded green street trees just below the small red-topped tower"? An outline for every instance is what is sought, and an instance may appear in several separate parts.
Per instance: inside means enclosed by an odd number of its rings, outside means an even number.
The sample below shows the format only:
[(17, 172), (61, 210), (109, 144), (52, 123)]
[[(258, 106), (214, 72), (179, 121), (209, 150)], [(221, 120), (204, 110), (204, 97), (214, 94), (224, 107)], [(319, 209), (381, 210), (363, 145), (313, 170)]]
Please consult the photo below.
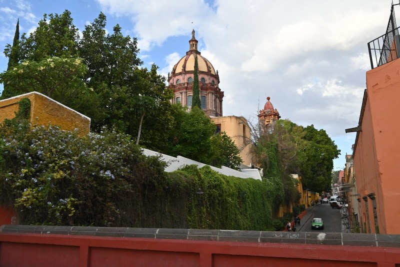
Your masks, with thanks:
[[(253, 129), (256, 127), (253, 127)], [(299, 174), (303, 188), (327, 191), (333, 159), (340, 150), (324, 130), (302, 127), (289, 120), (276, 121), (273, 132), (255, 138), (254, 151), (266, 177), (280, 177), (285, 201), (297, 198), (290, 174)]]

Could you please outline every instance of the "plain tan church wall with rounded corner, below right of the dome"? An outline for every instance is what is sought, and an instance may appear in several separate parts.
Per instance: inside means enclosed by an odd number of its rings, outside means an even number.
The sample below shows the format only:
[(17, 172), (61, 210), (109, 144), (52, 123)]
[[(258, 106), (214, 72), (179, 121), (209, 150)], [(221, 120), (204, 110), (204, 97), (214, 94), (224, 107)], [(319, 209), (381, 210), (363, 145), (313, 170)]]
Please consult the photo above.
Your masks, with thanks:
[(211, 117), (215, 124), (221, 126), (221, 132), (225, 132), (240, 150), (240, 157), (244, 165), (255, 165), (254, 157), (251, 153), (251, 134), (250, 127), (243, 117), (224, 116)]

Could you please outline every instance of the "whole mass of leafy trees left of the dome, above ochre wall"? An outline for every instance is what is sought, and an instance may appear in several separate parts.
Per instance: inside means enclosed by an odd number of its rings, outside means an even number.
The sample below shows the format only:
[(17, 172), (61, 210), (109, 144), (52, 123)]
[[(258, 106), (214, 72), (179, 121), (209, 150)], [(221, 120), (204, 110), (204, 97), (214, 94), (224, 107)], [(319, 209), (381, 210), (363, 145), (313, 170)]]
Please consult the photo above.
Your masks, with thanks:
[[(154, 121), (161, 108), (168, 112), (172, 94), (165, 87), (165, 78), (157, 74), (157, 66), (140, 68), (137, 40), (123, 36), (118, 25), (106, 34), (105, 26), (106, 17), (100, 13), (85, 26), (80, 38), (69, 11), (45, 14), (33, 33), (22, 34), (17, 46), (6, 46), (5, 56), (18, 55), (23, 66), (2, 75), (1, 82), (13, 85), (2, 98), (36, 90), (89, 116), (94, 131), (107, 126), (138, 136), (142, 125), (141, 138), (149, 140), (147, 134), (154, 135), (158, 129), (146, 120)], [(53, 62), (46, 65), (49, 59)], [(73, 60), (79, 61), (79, 66), (72, 70), (65, 63)], [(91, 97), (82, 97), (87, 88), (93, 89)], [(153, 104), (146, 101), (143, 105), (145, 99)], [(173, 118), (164, 118), (168, 119)], [(165, 135), (162, 130), (156, 135)]]

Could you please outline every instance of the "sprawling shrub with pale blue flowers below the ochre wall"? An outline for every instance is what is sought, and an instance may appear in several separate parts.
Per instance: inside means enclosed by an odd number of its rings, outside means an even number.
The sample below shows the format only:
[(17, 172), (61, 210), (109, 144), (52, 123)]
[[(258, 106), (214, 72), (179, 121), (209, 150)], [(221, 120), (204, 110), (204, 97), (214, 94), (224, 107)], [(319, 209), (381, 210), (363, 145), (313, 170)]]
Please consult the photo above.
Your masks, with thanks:
[(127, 135), (104, 129), (79, 137), (56, 126), (30, 129), (20, 118), (0, 126), (0, 164), (0, 201), (28, 224), (129, 224), (126, 203), (163, 178), (163, 163)]

